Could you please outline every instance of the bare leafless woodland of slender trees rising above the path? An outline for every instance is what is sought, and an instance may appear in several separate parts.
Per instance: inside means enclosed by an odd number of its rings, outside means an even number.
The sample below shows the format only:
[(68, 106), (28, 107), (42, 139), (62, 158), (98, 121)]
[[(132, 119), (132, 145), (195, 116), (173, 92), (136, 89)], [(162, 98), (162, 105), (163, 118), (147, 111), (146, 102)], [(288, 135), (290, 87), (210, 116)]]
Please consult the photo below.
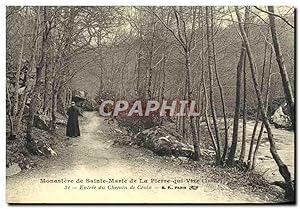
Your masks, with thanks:
[[(6, 32), (10, 140), (25, 131), (30, 142), (36, 115), (47, 116), (55, 129), (73, 89), (97, 101), (196, 100), (200, 117), (174, 119), (176, 131), (193, 144), (194, 160), (205, 140), (217, 165), (254, 169), (266, 128), (272, 156), (293, 191), (269, 106), (284, 97), (294, 124), (294, 8), (9, 6)], [(245, 153), (248, 119), (256, 123)], [(164, 122), (143, 120), (147, 128)]]

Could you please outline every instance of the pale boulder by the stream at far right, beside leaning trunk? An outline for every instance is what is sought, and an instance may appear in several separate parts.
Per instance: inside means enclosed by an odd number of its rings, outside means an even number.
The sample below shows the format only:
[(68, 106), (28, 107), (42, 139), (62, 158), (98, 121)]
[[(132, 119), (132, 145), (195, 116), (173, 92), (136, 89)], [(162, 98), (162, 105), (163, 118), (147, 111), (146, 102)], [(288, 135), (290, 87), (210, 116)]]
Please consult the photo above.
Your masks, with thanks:
[(281, 105), (275, 110), (274, 114), (271, 116), (271, 122), (274, 123), (275, 128), (291, 128), (292, 123), (290, 117), (284, 113), (284, 109), (286, 108), (286, 106), (286, 103)]

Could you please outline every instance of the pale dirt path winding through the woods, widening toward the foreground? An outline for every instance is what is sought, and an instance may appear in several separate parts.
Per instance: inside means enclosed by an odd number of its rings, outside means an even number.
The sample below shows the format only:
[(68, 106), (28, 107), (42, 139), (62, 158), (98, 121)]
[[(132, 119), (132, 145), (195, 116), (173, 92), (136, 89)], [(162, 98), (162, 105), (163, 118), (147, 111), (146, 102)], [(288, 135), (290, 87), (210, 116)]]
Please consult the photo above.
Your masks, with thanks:
[[(22, 171), (7, 177), (7, 202), (34, 203), (220, 203), (265, 202), (254, 194), (233, 191), (224, 184), (208, 182), (184, 168), (162, 164), (161, 157), (148, 159), (142, 153), (128, 159), (127, 148), (111, 146), (108, 127), (96, 112), (87, 112), (81, 119), (81, 137), (49, 159), (39, 170)], [(129, 153), (130, 154), (130, 153)], [(118, 179), (136, 183), (40, 183), (40, 179)], [(151, 183), (156, 180), (177, 180), (178, 183)], [(186, 179), (198, 180), (187, 183)], [(141, 183), (148, 181), (148, 183)], [(180, 181), (183, 181), (182, 183)], [(90, 186), (80, 189), (80, 185)], [(96, 189), (92, 189), (92, 186)], [(138, 189), (130, 189), (130, 186)], [(99, 187), (102, 186), (102, 187)], [(165, 186), (166, 189), (162, 189)], [(168, 187), (170, 186), (170, 187)], [(177, 186), (177, 188), (175, 188)], [(190, 186), (194, 186), (191, 189)], [(103, 188), (105, 187), (105, 188)], [(127, 187), (127, 189), (125, 188)], [(83, 188), (83, 187), (81, 187)]]

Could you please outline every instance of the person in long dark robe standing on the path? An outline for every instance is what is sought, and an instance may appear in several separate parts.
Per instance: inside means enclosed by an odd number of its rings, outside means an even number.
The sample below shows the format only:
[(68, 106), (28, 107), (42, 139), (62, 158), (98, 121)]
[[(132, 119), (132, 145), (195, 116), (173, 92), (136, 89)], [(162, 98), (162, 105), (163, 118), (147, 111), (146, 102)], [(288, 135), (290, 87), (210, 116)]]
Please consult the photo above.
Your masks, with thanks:
[(78, 137), (80, 136), (78, 115), (80, 113), (79, 109), (75, 106), (75, 102), (72, 102), (71, 107), (67, 111), (68, 122), (67, 122), (67, 136)]

